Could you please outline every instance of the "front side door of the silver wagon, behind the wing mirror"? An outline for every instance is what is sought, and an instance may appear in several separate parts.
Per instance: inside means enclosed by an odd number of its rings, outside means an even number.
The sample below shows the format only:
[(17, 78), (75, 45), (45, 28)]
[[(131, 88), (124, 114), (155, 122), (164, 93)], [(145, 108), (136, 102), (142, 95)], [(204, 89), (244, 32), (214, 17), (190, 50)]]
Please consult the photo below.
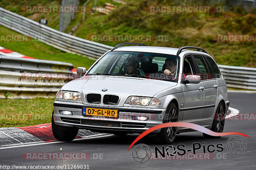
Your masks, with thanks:
[[(191, 55), (185, 56), (183, 61), (183, 73), (184, 63), (188, 62), (190, 67), (189, 74), (196, 75), (197, 70), (195, 61)], [(204, 85), (202, 82), (199, 84), (182, 84), (184, 92), (184, 110), (182, 122), (199, 122), (202, 120), (204, 112)], [(200, 90), (201, 89), (201, 90)]]

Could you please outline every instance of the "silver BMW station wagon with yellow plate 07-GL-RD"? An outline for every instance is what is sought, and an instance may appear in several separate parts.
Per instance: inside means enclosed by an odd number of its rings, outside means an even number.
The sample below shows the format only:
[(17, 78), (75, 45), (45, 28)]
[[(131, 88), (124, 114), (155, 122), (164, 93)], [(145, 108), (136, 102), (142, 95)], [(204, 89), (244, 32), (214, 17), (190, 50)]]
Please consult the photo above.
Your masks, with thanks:
[[(138, 46), (123, 46), (128, 44)], [(78, 129), (140, 134), (166, 122), (195, 123), (214, 132), (224, 129), (225, 119), (214, 115), (228, 111), (227, 86), (204, 49), (122, 43), (88, 71), (78, 67), (77, 74), (82, 77), (65, 84), (55, 97), (52, 132), (57, 140), (72, 141)], [(169, 127), (150, 135), (170, 144), (176, 134), (189, 131), (194, 130)]]

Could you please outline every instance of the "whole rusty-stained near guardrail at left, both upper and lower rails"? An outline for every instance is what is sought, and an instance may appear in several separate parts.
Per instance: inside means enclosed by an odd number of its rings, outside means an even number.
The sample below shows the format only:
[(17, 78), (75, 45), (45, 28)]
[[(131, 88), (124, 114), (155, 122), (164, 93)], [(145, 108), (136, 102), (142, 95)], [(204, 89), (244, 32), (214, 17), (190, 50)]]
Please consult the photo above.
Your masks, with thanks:
[(0, 98), (54, 97), (68, 81), (79, 78), (73, 68), (70, 63), (0, 55)]

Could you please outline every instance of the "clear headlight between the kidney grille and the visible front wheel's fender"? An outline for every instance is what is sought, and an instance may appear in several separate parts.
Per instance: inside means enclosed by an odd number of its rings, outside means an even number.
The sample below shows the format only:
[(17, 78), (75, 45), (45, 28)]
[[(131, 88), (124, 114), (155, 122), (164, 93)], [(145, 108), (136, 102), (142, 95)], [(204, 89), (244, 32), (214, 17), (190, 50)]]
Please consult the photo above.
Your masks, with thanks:
[[(151, 102), (150, 102), (151, 101)], [(130, 105), (142, 105), (142, 106), (161, 106), (161, 102), (152, 97), (139, 97), (139, 96), (130, 96), (124, 102), (125, 104)]]

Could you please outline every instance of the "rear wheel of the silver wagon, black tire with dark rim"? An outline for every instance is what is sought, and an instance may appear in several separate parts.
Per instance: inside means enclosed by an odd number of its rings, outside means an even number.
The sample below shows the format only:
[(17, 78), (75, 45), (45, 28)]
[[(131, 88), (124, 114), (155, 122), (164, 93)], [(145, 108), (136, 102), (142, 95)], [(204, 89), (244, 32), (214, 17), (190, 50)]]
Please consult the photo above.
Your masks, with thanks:
[[(225, 125), (225, 115), (226, 115), (226, 110), (224, 107), (224, 103), (220, 102), (220, 104), (217, 107), (216, 113), (214, 115), (214, 119), (212, 122), (212, 128), (211, 130), (214, 132), (223, 132), (224, 130), (224, 125)], [(221, 114), (221, 116), (219, 116), (219, 114)], [(207, 135), (205, 133), (203, 133), (204, 137), (206, 138), (220, 138), (220, 136), (215, 137), (215, 136), (211, 136), (211, 135)]]

